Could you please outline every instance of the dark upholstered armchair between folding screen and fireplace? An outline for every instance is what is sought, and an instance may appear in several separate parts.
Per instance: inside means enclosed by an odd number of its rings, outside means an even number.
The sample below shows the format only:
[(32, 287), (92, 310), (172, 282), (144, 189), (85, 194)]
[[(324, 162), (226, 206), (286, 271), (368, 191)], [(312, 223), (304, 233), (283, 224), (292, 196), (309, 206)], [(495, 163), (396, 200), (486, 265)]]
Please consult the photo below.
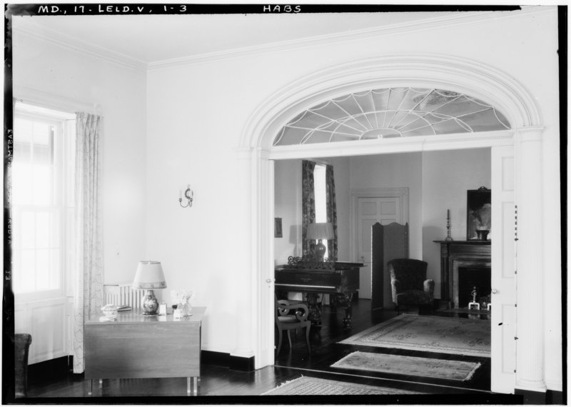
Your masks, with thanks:
[(434, 311), (434, 280), (426, 278), (428, 263), (414, 258), (395, 258), (389, 261), (390, 287), (396, 310), (400, 306), (430, 306)]

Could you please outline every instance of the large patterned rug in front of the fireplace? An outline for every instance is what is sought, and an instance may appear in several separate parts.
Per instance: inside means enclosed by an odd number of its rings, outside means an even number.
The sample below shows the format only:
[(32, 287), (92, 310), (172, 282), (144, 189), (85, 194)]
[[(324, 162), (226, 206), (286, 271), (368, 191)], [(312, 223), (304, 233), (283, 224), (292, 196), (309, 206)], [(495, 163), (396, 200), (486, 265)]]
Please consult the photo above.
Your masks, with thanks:
[(490, 357), (490, 328), (486, 319), (403, 313), (339, 343)]

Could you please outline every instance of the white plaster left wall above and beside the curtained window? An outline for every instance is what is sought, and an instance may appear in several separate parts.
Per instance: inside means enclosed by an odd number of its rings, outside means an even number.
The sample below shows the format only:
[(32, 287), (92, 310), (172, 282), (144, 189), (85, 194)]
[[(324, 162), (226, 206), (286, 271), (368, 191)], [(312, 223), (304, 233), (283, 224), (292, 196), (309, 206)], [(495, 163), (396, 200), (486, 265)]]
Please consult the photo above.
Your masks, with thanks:
[(131, 282), (145, 256), (146, 73), (20, 31), (13, 38), (13, 61), (14, 97), (37, 94), (53, 99), (55, 109), (87, 106), (103, 116), (104, 278)]

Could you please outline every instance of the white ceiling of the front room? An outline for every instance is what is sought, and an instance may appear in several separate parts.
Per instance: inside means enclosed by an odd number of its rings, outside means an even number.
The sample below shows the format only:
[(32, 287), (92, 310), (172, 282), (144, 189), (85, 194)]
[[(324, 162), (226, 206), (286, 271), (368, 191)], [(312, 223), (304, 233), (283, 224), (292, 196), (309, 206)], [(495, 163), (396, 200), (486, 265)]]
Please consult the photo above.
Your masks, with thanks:
[(18, 30), (143, 64), (445, 19), (450, 12), (14, 16)]

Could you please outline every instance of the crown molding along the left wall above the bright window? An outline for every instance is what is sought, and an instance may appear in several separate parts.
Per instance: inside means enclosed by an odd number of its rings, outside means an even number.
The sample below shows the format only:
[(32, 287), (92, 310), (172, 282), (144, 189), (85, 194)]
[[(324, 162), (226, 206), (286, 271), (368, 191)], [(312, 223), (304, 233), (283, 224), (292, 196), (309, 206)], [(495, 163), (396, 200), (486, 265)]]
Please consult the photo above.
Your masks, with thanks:
[(105, 49), (101, 46), (96, 46), (86, 41), (80, 41), (78, 39), (71, 38), (70, 36), (66, 36), (55, 30), (46, 29), (44, 27), (35, 25), (33, 26), (30, 24), (26, 27), (13, 26), (13, 38), (14, 34), (16, 33), (25, 34), (27, 36), (33, 37), (34, 39), (49, 41), (53, 44), (73, 49), (74, 51), (80, 51), (84, 54), (94, 56), (95, 58), (111, 62), (112, 64), (126, 66), (127, 68), (142, 72), (147, 70), (148, 65), (144, 61), (131, 58), (130, 56), (126, 56), (109, 49)]

